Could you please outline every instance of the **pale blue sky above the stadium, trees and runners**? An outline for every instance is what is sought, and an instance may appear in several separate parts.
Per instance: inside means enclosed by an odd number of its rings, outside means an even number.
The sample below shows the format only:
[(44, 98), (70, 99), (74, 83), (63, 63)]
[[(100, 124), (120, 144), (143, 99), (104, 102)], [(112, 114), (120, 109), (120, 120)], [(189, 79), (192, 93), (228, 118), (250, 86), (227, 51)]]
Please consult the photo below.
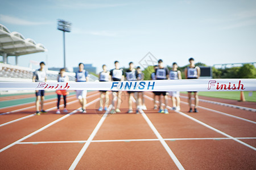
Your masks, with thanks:
[[(63, 32), (57, 19), (72, 23), (66, 33), (66, 65), (92, 63), (101, 70), (121, 66), (151, 52), (165, 65), (188, 58), (209, 66), (256, 62), (256, 1), (3, 1), (0, 23), (42, 43), (48, 52), (19, 57), (63, 67)], [(2, 57), (0, 57), (1, 60)], [(9, 57), (14, 64), (15, 58)]]

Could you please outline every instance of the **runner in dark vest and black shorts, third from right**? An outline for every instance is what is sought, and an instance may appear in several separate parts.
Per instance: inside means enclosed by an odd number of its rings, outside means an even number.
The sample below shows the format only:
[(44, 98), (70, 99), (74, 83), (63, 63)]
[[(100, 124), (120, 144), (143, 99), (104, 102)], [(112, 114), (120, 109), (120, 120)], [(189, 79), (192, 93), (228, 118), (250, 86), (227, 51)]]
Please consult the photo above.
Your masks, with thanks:
[[(156, 80), (164, 80), (169, 78), (169, 70), (167, 67), (164, 67), (163, 65), (163, 60), (159, 59), (158, 60), (158, 69), (155, 70), (155, 77)], [(166, 108), (168, 105), (168, 93), (166, 91), (158, 91), (155, 92), (156, 96), (159, 96), (159, 104), (160, 104), (160, 109), (159, 113), (165, 113), (168, 114), (168, 109)], [(161, 95), (164, 97), (164, 104), (162, 103)]]

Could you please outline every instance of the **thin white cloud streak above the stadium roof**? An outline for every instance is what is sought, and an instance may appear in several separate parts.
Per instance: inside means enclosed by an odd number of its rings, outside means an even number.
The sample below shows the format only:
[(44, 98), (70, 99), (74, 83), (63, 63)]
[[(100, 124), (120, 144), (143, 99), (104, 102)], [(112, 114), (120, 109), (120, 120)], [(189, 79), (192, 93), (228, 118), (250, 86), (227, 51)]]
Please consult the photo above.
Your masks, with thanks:
[(31, 22), (28, 20), (16, 18), (14, 16), (9, 16), (9, 15), (3, 15), (0, 14), (0, 21), (3, 23), (8, 23), (8, 24), (15, 24), (15, 25), (43, 25), (43, 24), (49, 24), (46, 22)]

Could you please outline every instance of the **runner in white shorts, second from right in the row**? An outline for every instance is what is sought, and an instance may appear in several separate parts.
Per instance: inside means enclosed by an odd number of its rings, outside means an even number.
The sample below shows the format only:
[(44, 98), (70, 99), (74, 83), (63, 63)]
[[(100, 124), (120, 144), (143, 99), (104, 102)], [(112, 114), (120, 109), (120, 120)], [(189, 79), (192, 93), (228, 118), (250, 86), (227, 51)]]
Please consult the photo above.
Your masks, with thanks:
[[(170, 71), (169, 78), (172, 79), (181, 79), (181, 72), (177, 70), (177, 63), (172, 63), (172, 70)], [(180, 111), (180, 92), (179, 91), (171, 91), (169, 95), (172, 97), (172, 110)], [(175, 99), (176, 98), (176, 99)], [(177, 104), (176, 104), (177, 101)]]

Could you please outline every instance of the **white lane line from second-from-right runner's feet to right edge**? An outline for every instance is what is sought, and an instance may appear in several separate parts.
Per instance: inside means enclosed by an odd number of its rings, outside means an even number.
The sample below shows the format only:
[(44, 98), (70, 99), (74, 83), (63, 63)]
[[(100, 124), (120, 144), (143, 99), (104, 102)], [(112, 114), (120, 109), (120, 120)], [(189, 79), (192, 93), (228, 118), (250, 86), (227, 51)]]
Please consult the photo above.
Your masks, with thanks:
[(253, 149), (254, 151), (256, 151), (256, 148), (255, 148), (255, 147), (250, 146), (250, 145), (248, 145), (247, 143), (242, 142), (242, 141), (240, 141), (239, 139), (234, 138), (234, 137), (232, 137), (231, 135), (224, 133), (223, 131), (220, 131), (220, 130), (218, 130), (218, 129), (216, 129), (216, 128), (213, 128), (212, 126), (209, 126), (209, 125), (205, 124), (204, 122), (201, 122), (201, 121), (197, 120), (196, 118), (193, 118), (193, 117), (191, 117), (191, 116), (188, 116), (188, 114), (185, 114), (185, 113), (182, 113), (182, 112), (179, 112), (179, 111), (175, 111), (175, 112), (176, 112), (176, 113), (179, 113), (179, 114), (181, 114), (182, 116), (185, 116), (185, 117), (187, 117), (187, 118), (189, 118), (189, 119), (191, 119), (191, 120), (193, 120), (193, 121), (195, 121), (195, 122), (197, 122), (197, 123), (199, 123), (199, 124), (201, 124), (201, 125), (203, 125), (203, 126), (205, 126), (205, 127), (207, 127), (207, 128), (209, 128), (209, 129), (212, 129), (213, 131), (216, 131), (217, 133), (220, 133), (220, 134), (224, 135), (225, 137), (231, 138), (231, 139), (233, 139), (234, 141), (236, 141), (236, 142), (238, 142), (238, 143), (241, 143), (242, 145), (245, 145), (245, 146), (247, 146), (247, 147)]

